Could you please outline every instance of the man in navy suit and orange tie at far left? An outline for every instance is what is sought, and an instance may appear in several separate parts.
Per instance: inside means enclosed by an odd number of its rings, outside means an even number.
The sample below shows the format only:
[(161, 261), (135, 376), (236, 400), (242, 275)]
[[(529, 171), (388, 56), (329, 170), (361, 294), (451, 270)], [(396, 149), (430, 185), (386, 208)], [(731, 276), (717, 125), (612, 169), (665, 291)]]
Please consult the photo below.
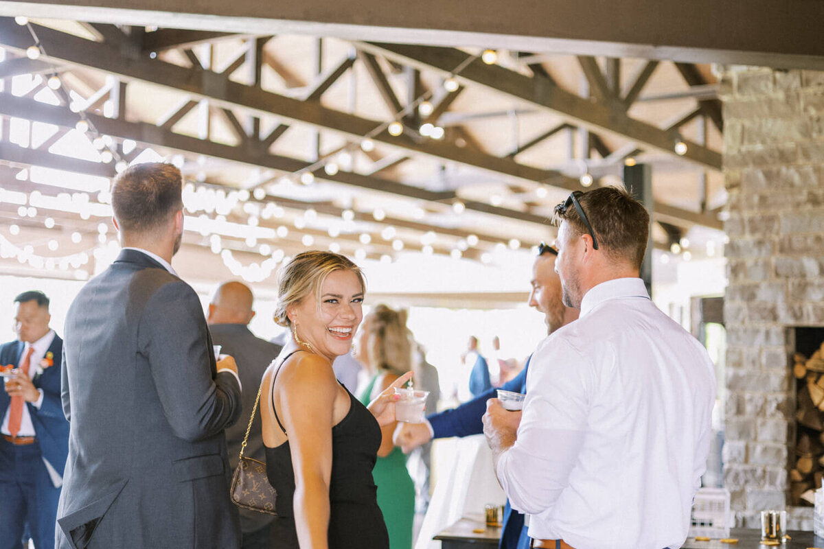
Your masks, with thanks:
[(60, 402), (63, 340), (49, 328), (43, 292), (23, 292), (14, 302), (18, 339), (0, 346), (7, 375), (0, 391), (0, 549), (19, 549), (26, 525), (37, 549), (52, 549), (68, 455)]

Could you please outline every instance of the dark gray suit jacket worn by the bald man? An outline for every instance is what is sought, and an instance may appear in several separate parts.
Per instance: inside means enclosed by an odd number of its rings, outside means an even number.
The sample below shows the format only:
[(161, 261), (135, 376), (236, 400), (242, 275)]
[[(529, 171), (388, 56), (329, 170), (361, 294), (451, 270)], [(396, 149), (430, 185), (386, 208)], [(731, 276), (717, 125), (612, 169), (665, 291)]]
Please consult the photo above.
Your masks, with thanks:
[[(252, 407), (255, 406), (255, 397), (260, 380), (263, 378), (266, 367), (280, 354), (281, 347), (274, 343), (269, 343), (265, 339), (255, 337), (246, 324), (209, 324), (209, 331), (212, 333), (212, 341), (215, 345), (222, 345), (221, 352), (232, 355), (237, 363), (237, 373), (240, 375), (243, 384), (243, 412), (241, 419), (226, 430), (226, 444), (229, 448), (229, 465), (232, 470), (237, 467), (238, 456), (241, 453), (243, 435), (246, 435), (246, 427), (249, 426), (249, 416)], [(261, 395), (260, 398), (267, 398), (268, 395)], [(258, 404), (260, 407), (260, 404)], [(266, 453), (263, 446), (263, 434), (260, 431), (260, 413), (255, 414), (257, 419), (252, 423), (249, 431), (249, 440), (246, 441), (246, 449), (243, 455), (247, 458), (255, 458), (265, 463)], [(227, 494), (228, 496), (228, 494)], [(244, 533), (255, 532), (264, 528), (272, 522), (274, 516), (271, 514), (258, 513), (249, 509), (240, 509), (241, 531)]]

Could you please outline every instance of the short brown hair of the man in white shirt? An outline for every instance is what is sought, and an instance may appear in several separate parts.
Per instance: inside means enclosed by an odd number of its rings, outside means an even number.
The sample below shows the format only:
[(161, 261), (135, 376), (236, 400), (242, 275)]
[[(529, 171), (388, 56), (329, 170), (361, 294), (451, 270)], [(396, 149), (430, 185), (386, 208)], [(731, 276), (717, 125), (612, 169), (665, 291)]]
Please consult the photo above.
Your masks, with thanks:
[[(596, 188), (576, 198), (592, 226), (598, 249), (613, 260), (630, 261), (640, 268), (649, 237), (649, 214), (644, 205), (618, 187)], [(553, 222), (560, 225), (561, 221), (569, 223), (575, 238), (589, 234), (577, 208), (556, 209)]]

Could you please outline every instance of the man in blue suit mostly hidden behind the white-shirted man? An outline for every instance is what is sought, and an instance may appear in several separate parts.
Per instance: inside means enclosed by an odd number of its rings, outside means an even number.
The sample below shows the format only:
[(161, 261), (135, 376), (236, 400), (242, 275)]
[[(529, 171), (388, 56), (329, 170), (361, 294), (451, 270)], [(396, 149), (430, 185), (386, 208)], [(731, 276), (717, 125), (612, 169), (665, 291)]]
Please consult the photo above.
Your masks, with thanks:
[[(555, 273), (555, 256), (558, 253), (550, 246), (541, 243), (538, 256), (532, 265), (532, 291), (529, 305), (544, 314), (547, 333), (552, 333), (564, 324), (578, 318), (578, 309), (565, 307), (561, 302), (561, 282)], [(523, 393), (527, 386), (527, 369), (529, 359), (521, 373), (503, 384), (505, 391)], [(405, 453), (417, 448), (429, 440), (450, 436), (478, 435), (484, 432), (481, 417), (486, 412), (486, 401), (496, 398), (497, 389), (491, 388), (469, 402), (452, 410), (427, 416), (424, 423), (404, 423), (395, 433), (395, 444)], [(524, 526), (523, 515), (513, 510), (507, 501), (503, 511), (503, 533), (499, 543), (500, 549), (527, 549), (529, 537)]]

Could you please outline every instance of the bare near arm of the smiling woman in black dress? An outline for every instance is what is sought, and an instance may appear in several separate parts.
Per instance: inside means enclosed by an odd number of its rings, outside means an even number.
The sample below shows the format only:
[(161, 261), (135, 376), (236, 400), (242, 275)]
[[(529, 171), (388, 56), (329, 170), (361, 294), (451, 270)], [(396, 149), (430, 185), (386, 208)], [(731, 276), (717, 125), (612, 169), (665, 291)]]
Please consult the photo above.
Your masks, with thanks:
[(301, 547), (326, 549), (332, 426), (339, 385), (325, 358), (299, 353), (295, 359), (297, 363), (284, 365), (280, 374), (283, 382), (279, 379), (275, 387), (275, 405), (292, 453), (297, 540)]

